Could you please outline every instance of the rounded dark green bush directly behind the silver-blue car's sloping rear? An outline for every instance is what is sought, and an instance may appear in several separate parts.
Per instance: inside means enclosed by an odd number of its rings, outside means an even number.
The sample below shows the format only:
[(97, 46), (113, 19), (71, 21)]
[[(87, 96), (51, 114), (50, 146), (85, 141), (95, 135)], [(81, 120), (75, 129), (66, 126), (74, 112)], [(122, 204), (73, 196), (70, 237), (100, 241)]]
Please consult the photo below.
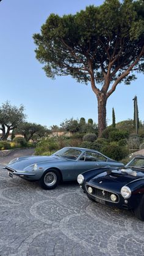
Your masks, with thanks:
[(129, 151), (126, 147), (120, 147), (116, 144), (109, 144), (102, 148), (101, 152), (107, 157), (112, 158), (113, 160), (120, 161), (126, 155), (128, 155)]

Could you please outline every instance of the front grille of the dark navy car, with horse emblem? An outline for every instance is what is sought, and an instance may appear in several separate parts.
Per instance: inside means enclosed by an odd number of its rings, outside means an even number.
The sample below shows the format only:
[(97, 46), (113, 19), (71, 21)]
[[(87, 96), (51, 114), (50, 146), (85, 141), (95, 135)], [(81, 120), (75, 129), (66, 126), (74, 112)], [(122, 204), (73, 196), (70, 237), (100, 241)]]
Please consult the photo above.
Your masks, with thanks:
[[(102, 200), (110, 201), (112, 203), (118, 203), (119, 202), (119, 196), (115, 193), (109, 192), (109, 191), (101, 189), (101, 188), (93, 187), (91, 185), (87, 185), (86, 187), (87, 187), (87, 192), (88, 192), (88, 187), (92, 187), (93, 192), (92, 192), (92, 194), (90, 194), (90, 193), (89, 194), (95, 196), (96, 198), (100, 198)], [(110, 196), (112, 194), (117, 196), (116, 201), (111, 200)]]

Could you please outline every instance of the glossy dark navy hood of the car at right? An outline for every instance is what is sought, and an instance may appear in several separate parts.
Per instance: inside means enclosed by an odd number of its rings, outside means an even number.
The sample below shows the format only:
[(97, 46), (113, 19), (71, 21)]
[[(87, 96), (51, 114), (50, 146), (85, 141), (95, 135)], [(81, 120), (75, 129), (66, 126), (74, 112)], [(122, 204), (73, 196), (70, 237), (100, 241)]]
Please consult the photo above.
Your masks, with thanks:
[(133, 180), (144, 177), (141, 171), (132, 171), (131, 169), (117, 169), (113, 171), (106, 171), (98, 174), (89, 180), (88, 184), (107, 190), (115, 189), (120, 191), (121, 187), (128, 185)]

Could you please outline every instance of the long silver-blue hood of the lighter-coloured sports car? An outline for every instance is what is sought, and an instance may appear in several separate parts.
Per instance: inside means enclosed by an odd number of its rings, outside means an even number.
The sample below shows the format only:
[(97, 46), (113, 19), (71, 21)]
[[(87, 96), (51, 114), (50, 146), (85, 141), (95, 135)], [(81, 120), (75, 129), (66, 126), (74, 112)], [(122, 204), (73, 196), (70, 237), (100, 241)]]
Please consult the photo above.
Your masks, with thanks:
[(67, 159), (60, 157), (46, 157), (46, 156), (31, 156), (31, 157), (20, 157), (13, 163), (9, 163), (5, 168), (12, 168), (15, 171), (23, 170), (27, 166), (34, 165), (35, 163), (51, 163), (52, 161), (67, 161)]

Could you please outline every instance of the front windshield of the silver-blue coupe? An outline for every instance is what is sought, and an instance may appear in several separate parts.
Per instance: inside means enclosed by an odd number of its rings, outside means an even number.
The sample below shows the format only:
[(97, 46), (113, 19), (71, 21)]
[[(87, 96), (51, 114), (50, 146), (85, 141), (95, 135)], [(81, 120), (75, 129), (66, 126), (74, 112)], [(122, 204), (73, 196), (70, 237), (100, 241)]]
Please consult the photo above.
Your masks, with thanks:
[(63, 149), (60, 149), (53, 155), (56, 155), (58, 157), (67, 158), (67, 159), (76, 160), (79, 157), (79, 155), (81, 155), (81, 153), (82, 153), (82, 151), (79, 149), (68, 149), (68, 148), (64, 147)]

